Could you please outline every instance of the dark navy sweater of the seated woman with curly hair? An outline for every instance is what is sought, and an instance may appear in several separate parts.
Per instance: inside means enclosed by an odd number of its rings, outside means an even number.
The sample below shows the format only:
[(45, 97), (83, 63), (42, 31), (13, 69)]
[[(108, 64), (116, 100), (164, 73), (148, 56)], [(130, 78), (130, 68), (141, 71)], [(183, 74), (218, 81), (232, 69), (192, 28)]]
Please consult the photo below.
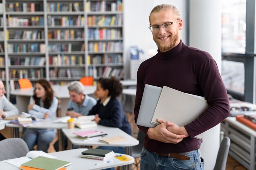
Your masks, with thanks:
[(111, 98), (106, 106), (103, 106), (101, 99), (99, 99), (88, 115), (96, 114), (101, 118), (100, 125), (116, 127), (129, 135), (132, 134), (130, 123), (126, 118), (121, 102), (117, 98)]

